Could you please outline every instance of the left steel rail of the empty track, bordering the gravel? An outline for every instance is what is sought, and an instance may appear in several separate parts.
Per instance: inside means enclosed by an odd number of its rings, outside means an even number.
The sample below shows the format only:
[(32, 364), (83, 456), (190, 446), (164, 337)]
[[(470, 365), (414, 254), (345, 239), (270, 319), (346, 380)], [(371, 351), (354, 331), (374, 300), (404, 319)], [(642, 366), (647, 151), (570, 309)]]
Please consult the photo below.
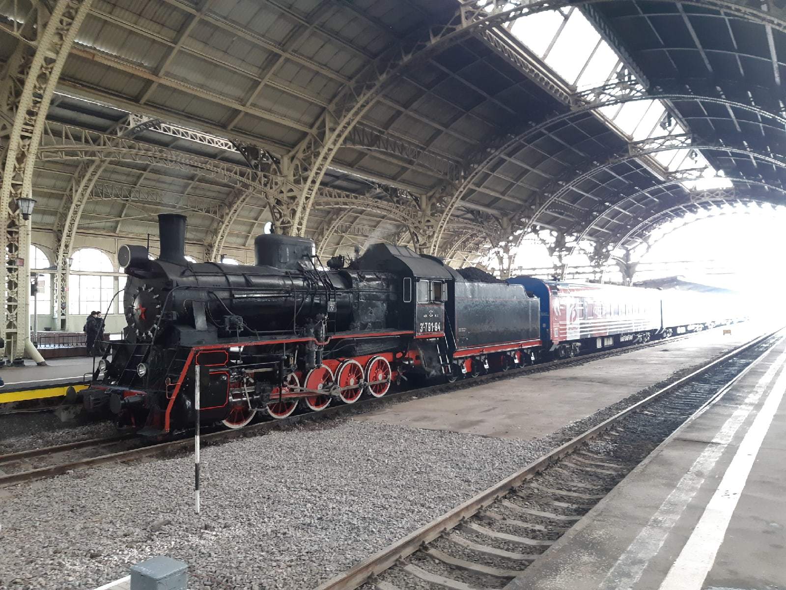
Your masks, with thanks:
[[(480, 492), (471, 500), (467, 500), (465, 503), (462, 503), (460, 506), (454, 508), (450, 512), (447, 512), (446, 514), (443, 514), (443, 516), (436, 518), (434, 521), (429, 522), (428, 525), (424, 525), (421, 527), (421, 529), (418, 529), (407, 537), (404, 537), (403, 539), (388, 545), (386, 548), (372, 555), (368, 559), (358, 563), (358, 565), (352, 567), (344, 573), (340, 573), (338, 576), (333, 577), (329, 581), (325, 581), (317, 588), (314, 588), (314, 590), (354, 590), (355, 588), (358, 588), (358, 586), (364, 584), (366, 581), (369, 581), (369, 578), (372, 578), (389, 569), (391, 566), (395, 565), (399, 559), (402, 559), (407, 555), (411, 555), (420, 549), (424, 544), (428, 544), (430, 541), (435, 540), (446, 530), (453, 529), (466, 518), (476, 514), (484, 507), (487, 507), (490, 503), (494, 503), (494, 501), (498, 500), (501, 496), (507, 495), (512, 489), (521, 485), (523, 481), (533, 478), (534, 475), (538, 474), (540, 471), (544, 470), (551, 464), (556, 463), (556, 461), (562, 459), (565, 455), (569, 455), (587, 441), (597, 437), (600, 433), (608, 430), (617, 422), (626, 418), (626, 416), (632, 414), (635, 411), (641, 410), (643, 407), (674, 391), (674, 389), (677, 389), (681, 385), (685, 385), (697, 377), (700, 377), (700, 375), (707, 373), (707, 371), (711, 371), (711, 369), (714, 367), (718, 367), (719, 364), (732, 359), (734, 356), (747, 351), (749, 348), (753, 348), (762, 341), (766, 341), (766, 339), (773, 337), (781, 330), (784, 330), (784, 328), (779, 328), (778, 330), (763, 336), (756, 337), (754, 340), (747, 342), (747, 344), (735, 348), (733, 351), (728, 352), (724, 356), (713, 360), (710, 363), (707, 363), (700, 369), (692, 371), (692, 373), (685, 375), (685, 377), (682, 377), (677, 381), (663, 387), (662, 389), (659, 389), (656, 391), (656, 393), (652, 393), (652, 395), (645, 397), (645, 399), (638, 401), (637, 403), (627, 407), (622, 411), (619, 411), (611, 418), (604, 420), (604, 422), (589, 428), (589, 430), (586, 430), (584, 433), (578, 435), (578, 437), (567, 441), (566, 443), (560, 445), (560, 447), (557, 447), (545, 455), (542, 455), (540, 458), (535, 459), (532, 463), (529, 463), (515, 474), (510, 475), (508, 478), (505, 478), (504, 480), (499, 481), (497, 484), (492, 485), (485, 491)], [(768, 351), (769, 349), (771, 348), (768, 348)], [(712, 399), (717, 399), (718, 395), (720, 395), (722, 391), (728, 389), (729, 385), (731, 385), (731, 383), (735, 382), (736, 379), (740, 377), (740, 374), (736, 375), (731, 380), (731, 382), (724, 385), (724, 387), (718, 393), (716, 393)], [(708, 403), (709, 402), (707, 402), (707, 404)], [(706, 407), (707, 404), (703, 404), (702, 407), (700, 407), (697, 411), (701, 411), (703, 407)]]

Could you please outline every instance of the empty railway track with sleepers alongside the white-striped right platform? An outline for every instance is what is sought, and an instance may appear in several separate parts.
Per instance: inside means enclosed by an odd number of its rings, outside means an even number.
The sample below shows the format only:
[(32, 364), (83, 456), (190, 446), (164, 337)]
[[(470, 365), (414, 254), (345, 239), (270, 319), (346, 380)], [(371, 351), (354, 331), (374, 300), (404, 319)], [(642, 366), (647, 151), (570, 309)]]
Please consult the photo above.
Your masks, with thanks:
[(758, 337), (659, 389), (316, 590), (503, 588), (782, 337)]

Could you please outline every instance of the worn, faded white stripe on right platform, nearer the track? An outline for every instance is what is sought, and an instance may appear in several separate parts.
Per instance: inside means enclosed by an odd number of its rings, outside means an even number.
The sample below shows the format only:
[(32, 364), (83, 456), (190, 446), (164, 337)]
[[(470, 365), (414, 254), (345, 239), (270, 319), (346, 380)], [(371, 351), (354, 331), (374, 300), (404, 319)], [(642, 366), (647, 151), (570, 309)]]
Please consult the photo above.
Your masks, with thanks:
[[(755, 367), (764, 357), (760, 357), (749, 365)], [(762, 375), (755, 389), (745, 401), (729, 416), (721, 430), (707, 444), (688, 472), (682, 476), (666, 500), (660, 505), (647, 525), (641, 529), (628, 548), (619, 556), (611, 570), (606, 574), (599, 588), (604, 590), (630, 590), (641, 578), (641, 574), (649, 565), (650, 560), (658, 554), (666, 537), (685, 511), (693, 496), (699, 491), (707, 474), (732, 441), (735, 433), (757, 404), (765, 389), (784, 365), (786, 352), (781, 352), (777, 360)]]

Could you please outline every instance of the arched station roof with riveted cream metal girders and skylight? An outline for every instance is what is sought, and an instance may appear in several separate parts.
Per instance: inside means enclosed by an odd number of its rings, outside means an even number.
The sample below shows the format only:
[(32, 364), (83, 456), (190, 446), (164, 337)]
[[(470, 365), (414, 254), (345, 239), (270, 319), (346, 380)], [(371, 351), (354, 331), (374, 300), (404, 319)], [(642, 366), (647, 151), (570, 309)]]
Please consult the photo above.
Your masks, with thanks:
[(783, 201), (784, 31), (773, 0), (2, 2), (2, 247), (35, 198), (57, 301), (75, 249), (167, 211), (196, 260), (270, 227), (323, 258), (534, 233), (608, 257)]

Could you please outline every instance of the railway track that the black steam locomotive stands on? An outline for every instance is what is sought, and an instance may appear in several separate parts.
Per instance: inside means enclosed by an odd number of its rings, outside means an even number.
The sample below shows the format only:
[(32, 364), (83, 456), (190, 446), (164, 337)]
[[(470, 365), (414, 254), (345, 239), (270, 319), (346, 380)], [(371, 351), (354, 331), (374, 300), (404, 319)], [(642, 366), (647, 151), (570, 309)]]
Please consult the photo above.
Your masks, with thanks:
[[(615, 348), (613, 350), (589, 352), (572, 358), (527, 365), (509, 371), (483, 374), (479, 377), (462, 379), (452, 383), (440, 383), (438, 385), (428, 385), (416, 389), (391, 392), (381, 398), (363, 399), (351, 405), (335, 405), (323, 411), (312, 411), (299, 415), (292, 415), (281, 420), (252, 423), (240, 430), (208, 432), (203, 434), (202, 444), (203, 446), (219, 444), (236, 438), (256, 436), (272, 430), (283, 430), (300, 422), (329, 419), (345, 413), (362, 412), (368, 410), (370, 407), (376, 408), (380, 407), (380, 404), (397, 403), (408, 400), (413, 396), (422, 398), (424, 396), (439, 395), (458, 389), (483, 385), (484, 383), (496, 381), (498, 379), (514, 378), (523, 374), (555, 371), (564, 367), (576, 367), (593, 360), (605, 359), (612, 356), (623, 355), (626, 352), (641, 350), (642, 348), (663, 345), (665, 342), (672, 343), (681, 341), (692, 335), (693, 334), (685, 334), (684, 336), (672, 337), (667, 341), (650, 341), (645, 344), (631, 345), (624, 348)], [(178, 435), (174, 437), (174, 440), (151, 444), (148, 440), (134, 437), (133, 434), (130, 434), (91, 439), (88, 441), (75, 441), (73, 443), (61, 444), (53, 447), (37, 448), (9, 455), (0, 455), (0, 488), (7, 485), (22, 483), (24, 481), (51, 478), (68, 473), (68, 471), (87, 467), (111, 463), (127, 463), (153, 456), (175, 455), (178, 452), (188, 451), (193, 448), (192, 435), (193, 433), (191, 431), (178, 433)], [(76, 452), (88, 456), (79, 457)]]

